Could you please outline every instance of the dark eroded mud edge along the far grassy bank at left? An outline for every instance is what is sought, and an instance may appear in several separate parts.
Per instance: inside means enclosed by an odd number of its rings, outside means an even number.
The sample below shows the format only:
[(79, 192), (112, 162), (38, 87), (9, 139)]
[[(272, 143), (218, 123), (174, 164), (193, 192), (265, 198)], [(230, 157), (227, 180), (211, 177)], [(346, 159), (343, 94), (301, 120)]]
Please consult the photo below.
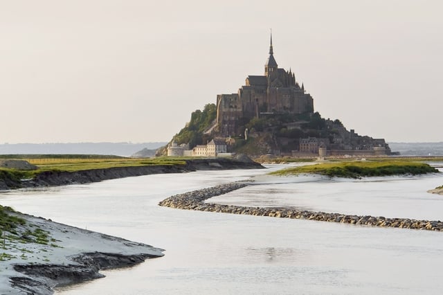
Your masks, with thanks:
[(98, 169), (85, 169), (74, 171), (46, 170), (37, 172), (29, 179), (17, 177), (12, 172), (2, 170), (0, 172), (0, 190), (15, 188), (35, 188), (42, 186), (64, 186), (68, 184), (89, 184), (93, 182), (152, 175), (160, 173), (184, 173), (197, 170), (233, 170), (233, 169), (258, 169), (264, 168), (260, 163), (248, 158), (204, 158), (183, 159), (180, 163), (165, 163), (145, 166), (123, 166)]

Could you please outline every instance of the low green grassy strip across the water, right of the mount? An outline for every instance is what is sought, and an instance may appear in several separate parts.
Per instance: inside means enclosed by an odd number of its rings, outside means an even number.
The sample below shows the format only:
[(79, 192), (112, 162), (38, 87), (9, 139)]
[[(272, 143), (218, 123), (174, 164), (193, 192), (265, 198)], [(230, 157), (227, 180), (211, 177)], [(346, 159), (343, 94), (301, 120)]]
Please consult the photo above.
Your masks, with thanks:
[(419, 175), (438, 172), (425, 163), (410, 161), (353, 161), (319, 163), (316, 165), (287, 168), (271, 172), (271, 175), (298, 175), (310, 173), (329, 177), (374, 177), (389, 175)]

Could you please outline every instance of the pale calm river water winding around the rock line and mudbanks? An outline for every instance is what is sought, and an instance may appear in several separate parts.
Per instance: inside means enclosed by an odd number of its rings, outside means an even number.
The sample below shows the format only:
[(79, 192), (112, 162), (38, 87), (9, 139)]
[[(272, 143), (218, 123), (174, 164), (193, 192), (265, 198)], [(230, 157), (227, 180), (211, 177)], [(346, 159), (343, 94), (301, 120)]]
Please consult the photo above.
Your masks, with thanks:
[[(270, 169), (282, 166), (271, 166)], [(326, 179), (265, 170), (148, 175), (0, 193), (0, 204), (165, 249), (56, 294), (442, 294), (443, 233), (183, 211), (166, 197), (253, 177), (211, 202), (443, 220), (441, 175)]]

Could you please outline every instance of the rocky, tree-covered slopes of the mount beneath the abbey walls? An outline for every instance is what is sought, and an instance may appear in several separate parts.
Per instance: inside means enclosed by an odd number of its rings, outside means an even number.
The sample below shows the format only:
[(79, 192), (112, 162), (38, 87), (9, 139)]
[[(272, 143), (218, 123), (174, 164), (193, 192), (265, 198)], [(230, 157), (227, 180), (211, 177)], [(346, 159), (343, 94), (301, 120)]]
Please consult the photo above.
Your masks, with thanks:
[[(170, 142), (175, 141), (178, 145), (189, 144), (192, 149), (195, 145), (206, 144), (212, 138), (221, 137), (215, 122), (216, 111), (215, 105), (208, 104), (203, 111), (192, 112), (190, 122), (175, 134)], [(243, 120), (228, 141), (228, 152), (250, 156), (289, 155), (300, 150), (300, 138), (317, 138), (319, 145), (325, 145), (328, 150), (372, 150), (373, 147), (384, 147), (390, 152), (384, 139), (360, 136), (354, 130), (346, 129), (340, 120), (322, 118), (318, 112), (262, 113), (259, 118)], [(166, 147), (157, 150), (156, 155), (165, 155)]]

